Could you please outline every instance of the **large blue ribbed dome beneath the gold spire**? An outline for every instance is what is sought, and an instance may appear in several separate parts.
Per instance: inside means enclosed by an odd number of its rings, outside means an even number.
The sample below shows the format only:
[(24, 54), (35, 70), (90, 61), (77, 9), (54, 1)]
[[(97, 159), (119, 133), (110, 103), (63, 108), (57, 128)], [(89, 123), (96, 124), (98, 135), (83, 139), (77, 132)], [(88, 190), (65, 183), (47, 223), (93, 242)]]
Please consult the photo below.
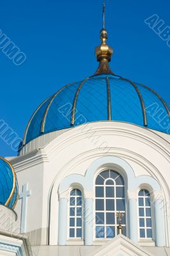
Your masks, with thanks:
[(116, 75), (67, 84), (36, 109), (24, 144), (42, 134), (97, 121), (127, 122), (168, 133), (169, 106), (152, 89)]

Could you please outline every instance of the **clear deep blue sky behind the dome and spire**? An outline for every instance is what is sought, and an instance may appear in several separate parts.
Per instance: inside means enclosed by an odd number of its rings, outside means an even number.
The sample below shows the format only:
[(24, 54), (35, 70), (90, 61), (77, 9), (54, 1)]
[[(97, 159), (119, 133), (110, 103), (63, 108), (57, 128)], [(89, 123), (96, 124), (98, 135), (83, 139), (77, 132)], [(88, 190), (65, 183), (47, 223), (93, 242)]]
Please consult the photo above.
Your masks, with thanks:
[[(102, 0), (1, 1), (0, 29), (27, 60), (15, 66), (0, 50), (0, 119), (23, 137), (32, 112), (61, 86), (91, 76), (102, 27)], [(144, 20), (154, 13), (170, 26), (168, 0), (107, 0), (113, 72), (144, 83), (167, 102), (170, 48)], [(0, 155), (15, 156), (0, 138)]]

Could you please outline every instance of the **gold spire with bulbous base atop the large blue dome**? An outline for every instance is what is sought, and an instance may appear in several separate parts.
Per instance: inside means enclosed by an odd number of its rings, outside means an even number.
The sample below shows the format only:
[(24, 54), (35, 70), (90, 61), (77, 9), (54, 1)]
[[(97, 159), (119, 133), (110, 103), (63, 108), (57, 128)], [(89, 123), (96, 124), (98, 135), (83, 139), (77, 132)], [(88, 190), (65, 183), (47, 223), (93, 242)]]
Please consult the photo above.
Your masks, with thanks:
[(103, 29), (101, 30), (101, 45), (96, 47), (96, 57), (97, 61), (99, 61), (99, 67), (97, 68), (95, 75), (114, 74), (109, 67), (113, 49), (106, 44), (107, 39), (108, 32), (105, 29), (105, 3), (103, 2)]

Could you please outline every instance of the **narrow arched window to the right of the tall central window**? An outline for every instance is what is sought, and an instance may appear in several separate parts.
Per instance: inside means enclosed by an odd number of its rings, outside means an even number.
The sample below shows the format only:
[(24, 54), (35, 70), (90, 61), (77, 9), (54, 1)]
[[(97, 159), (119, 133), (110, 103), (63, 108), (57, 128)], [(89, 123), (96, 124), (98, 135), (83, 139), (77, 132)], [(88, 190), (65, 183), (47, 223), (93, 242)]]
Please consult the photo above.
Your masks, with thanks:
[(152, 238), (152, 213), (150, 204), (150, 193), (141, 189), (138, 193), (139, 207), (139, 237)]

